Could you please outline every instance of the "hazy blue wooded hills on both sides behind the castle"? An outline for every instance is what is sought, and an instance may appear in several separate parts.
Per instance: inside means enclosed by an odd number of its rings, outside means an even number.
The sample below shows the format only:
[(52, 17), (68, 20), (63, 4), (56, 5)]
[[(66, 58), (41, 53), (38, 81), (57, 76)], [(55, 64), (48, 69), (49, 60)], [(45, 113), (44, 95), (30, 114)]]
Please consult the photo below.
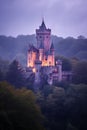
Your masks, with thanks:
[[(51, 37), (56, 55), (76, 57), (87, 60), (87, 39), (73, 37)], [(35, 35), (19, 35), (15, 37), (0, 36), (0, 57), (6, 60), (18, 59), (21, 64), (26, 64), (26, 56), (29, 44), (36, 45)]]

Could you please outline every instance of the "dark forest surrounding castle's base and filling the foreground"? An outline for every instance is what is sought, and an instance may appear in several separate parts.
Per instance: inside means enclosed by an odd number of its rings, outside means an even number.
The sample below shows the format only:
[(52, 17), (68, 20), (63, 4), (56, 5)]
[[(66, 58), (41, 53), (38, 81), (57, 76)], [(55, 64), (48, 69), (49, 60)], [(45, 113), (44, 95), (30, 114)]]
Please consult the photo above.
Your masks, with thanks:
[(34, 91), (34, 74), (28, 78), (17, 60), (0, 58), (1, 130), (86, 130), (87, 61), (56, 56), (63, 70), (73, 72), (72, 81), (47, 83), (42, 75)]

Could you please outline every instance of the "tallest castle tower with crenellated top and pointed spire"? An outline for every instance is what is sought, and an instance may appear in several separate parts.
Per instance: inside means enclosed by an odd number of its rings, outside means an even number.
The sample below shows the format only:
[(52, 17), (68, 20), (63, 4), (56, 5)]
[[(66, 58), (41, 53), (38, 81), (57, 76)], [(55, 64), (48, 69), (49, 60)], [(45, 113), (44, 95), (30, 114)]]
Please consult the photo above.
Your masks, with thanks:
[(42, 20), (41, 26), (36, 29), (37, 48), (39, 49), (40, 44), (43, 43), (44, 50), (47, 52), (50, 49), (50, 38), (51, 29), (47, 29), (44, 20)]

